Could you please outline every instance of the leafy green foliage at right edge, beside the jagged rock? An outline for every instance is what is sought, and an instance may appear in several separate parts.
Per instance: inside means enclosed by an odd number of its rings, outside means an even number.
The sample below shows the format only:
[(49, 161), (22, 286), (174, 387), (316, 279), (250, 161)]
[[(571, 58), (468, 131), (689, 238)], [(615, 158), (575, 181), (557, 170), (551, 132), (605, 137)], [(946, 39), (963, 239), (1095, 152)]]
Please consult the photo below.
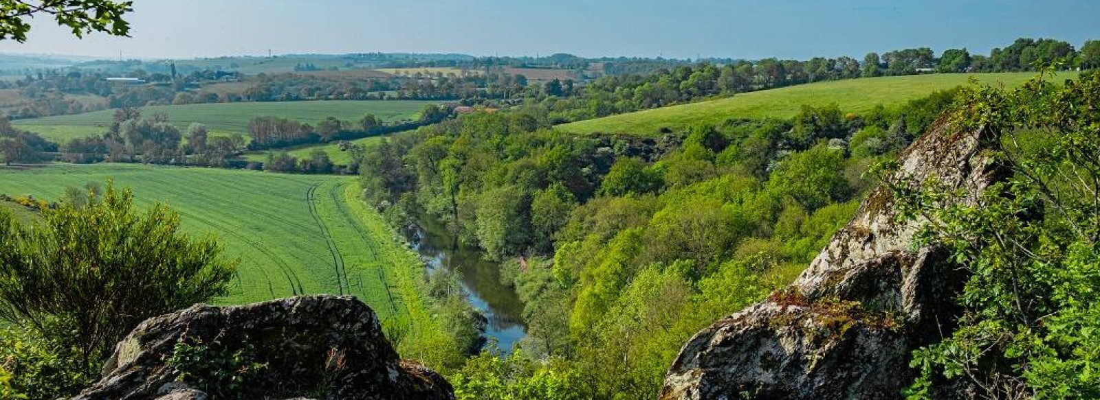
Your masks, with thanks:
[(960, 380), (989, 398), (1091, 399), (1100, 396), (1100, 75), (1059, 87), (1043, 79), (1009, 91), (967, 88), (959, 127), (992, 135), (987, 154), (1009, 179), (976, 203), (944, 205), (967, 193), (936, 185), (892, 187), (910, 215), (935, 223), (971, 274), (959, 298), (959, 327), (915, 353), (923, 377)]

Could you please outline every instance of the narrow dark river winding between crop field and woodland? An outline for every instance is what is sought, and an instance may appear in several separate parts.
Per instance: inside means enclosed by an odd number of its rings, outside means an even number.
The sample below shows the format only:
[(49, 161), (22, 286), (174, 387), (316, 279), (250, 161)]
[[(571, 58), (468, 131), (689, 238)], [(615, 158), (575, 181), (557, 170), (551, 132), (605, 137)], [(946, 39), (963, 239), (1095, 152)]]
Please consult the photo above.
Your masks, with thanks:
[(498, 263), (485, 260), (482, 251), (462, 245), (447, 227), (431, 218), (421, 218), (405, 231), (405, 238), (427, 262), (429, 271), (446, 268), (458, 273), (470, 303), (488, 320), (485, 336), (510, 353), (512, 346), (527, 335), (522, 321), (524, 303), (514, 288), (501, 282)]

